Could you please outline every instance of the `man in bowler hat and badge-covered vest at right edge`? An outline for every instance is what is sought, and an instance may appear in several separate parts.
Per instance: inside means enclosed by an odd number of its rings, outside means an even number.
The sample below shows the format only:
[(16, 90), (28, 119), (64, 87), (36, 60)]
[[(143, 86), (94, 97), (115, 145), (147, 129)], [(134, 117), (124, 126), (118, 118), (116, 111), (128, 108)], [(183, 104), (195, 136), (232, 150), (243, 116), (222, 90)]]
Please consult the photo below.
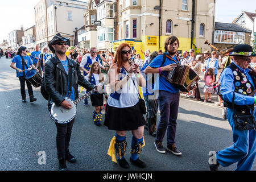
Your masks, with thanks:
[[(246, 44), (241, 44), (233, 49), (230, 56), (234, 57), (231, 63), (221, 73), (220, 94), (224, 100), (224, 105), (228, 107), (227, 118), (233, 131), (233, 145), (218, 151), (215, 164), (210, 164), (211, 171), (217, 171), (221, 164), (223, 167), (237, 163), (236, 170), (249, 171), (253, 166), (256, 155), (256, 131), (255, 131), (255, 110), (256, 102), (253, 79), (246, 71), (251, 57), (254, 55), (253, 48)], [(247, 118), (251, 127), (237, 125), (239, 118)], [(251, 118), (251, 119), (249, 119)], [(243, 122), (242, 122), (243, 123)]]

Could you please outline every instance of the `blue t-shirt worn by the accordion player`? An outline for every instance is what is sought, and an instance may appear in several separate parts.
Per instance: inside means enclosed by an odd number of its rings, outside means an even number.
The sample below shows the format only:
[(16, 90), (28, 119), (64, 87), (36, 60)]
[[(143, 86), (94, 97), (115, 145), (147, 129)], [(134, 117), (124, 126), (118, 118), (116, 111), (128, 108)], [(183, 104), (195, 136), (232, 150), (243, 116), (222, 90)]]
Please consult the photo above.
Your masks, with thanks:
[[(166, 54), (168, 55), (168, 53), (166, 52)], [(170, 55), (168, 55), (170, 56)], [(170, 56), (171, 57), (171, 56)], [(176, 60), (176, 56), (172, 57), (172, 59), (174, 59), (177, 63), (179, 63), (177, 60)], [(172, 61), (170, 59), (168, 59), (168, 57), (166, 57), (166, 61), (164, 62), (164, 64), (162, 65), (162, 67), (165, 67), (166, 65), (169, 65), (169, 64), (174, 64), (175, 61)], [(151, 61), (151, 63), (149, 64), (149, 66), (151, 68), (159, 68), (160, 65), (162, 64), (163, 62), (163, 55), (158, 55), (155, 57), (154, 60)], [(175, 63), (175, 64), (177, 64)], [(161, 74), (164, 75), (164, 76), (167, 76), (168, 74), (168, 71), (161, 71)], [(157, 81), (156, 83), (157, 84)], [(179, 89), (175, 86), (175, 85), (172, 85), (169, 81), (166, 80), (165, 77), (163, 76), (160, 76), (159, 75), (159, 83), (158, 83), (158, 86), (155, 85), (155, 89), (154, 90), (157, 90), (156, 88), (158, 87), (159, 90), (164, 90), (166, 92), (170, 92), (170, 93), (177, 93), (179, 92)]]

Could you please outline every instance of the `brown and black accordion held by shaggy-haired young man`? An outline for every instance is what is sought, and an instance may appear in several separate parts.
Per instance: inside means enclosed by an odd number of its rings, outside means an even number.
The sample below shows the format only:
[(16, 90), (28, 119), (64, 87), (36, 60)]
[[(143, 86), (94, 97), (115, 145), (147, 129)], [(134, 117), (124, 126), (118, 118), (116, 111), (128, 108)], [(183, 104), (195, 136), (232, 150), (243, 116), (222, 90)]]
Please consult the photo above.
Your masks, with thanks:
[(199, 76), (192, 68), (180, 64), (177, 64), (177, 67), (174, 67), (166, 76), (166, 80), (183, 92), (189, 92), (199, 79)]

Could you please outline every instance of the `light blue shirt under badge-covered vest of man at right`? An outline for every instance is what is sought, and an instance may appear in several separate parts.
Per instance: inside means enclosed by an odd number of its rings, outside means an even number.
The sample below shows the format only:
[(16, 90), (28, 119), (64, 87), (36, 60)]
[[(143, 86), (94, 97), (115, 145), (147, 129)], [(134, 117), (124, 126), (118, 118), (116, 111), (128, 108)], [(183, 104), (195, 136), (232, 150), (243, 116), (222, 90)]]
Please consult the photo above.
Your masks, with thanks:
[[(234, 64), (236, 64), (236, 63), (234, 63)], [(236, 64), (236, 66), (240, 69), (240, 71), (242, 73), (244, 73), (246, 75), (246, 78), (250, 81), (251, 85), (254, 85), (253, 80), (251, 79), (251, 77), (249, 76), (247, 71), (240, 68), (237, 64)], [(224, 98), (225, 101), (232, 103), (233, 93), (235, 90), (234, 75), (233, 75), (232, 69), (230, 69), (230, 68), (224, 69), (224, 71), (222, 71), (222, 73), (221, 73), (220, 81), (221, 81), (220, 93), (222, 94), (222, 97)], [(235, 92), (234, 104), (236, 104), (236, 105), (252, 105), (252, 104), (254, 104), (254, 97), (245, 96), (243, 94)]]

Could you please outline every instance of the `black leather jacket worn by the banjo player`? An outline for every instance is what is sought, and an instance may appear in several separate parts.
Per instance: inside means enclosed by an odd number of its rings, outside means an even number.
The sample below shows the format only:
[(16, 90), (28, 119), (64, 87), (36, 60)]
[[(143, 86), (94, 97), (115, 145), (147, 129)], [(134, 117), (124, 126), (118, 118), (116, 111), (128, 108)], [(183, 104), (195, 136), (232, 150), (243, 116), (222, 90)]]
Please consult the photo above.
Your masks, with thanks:
[[(75, 98), (79, 98), (78, 84), (86, 90), (92, 90), (95, 85), (85, 80), (81, 75), (79, 64), (75, 60), (68, 59), (69, 69), (72, 69), (72, 87)], [(55, 55), (44, 66), (44, 81), (46, 91), (57, 106), (64, 101), (68, 92), (68, 74), (65, 72), (59, 58)]]

